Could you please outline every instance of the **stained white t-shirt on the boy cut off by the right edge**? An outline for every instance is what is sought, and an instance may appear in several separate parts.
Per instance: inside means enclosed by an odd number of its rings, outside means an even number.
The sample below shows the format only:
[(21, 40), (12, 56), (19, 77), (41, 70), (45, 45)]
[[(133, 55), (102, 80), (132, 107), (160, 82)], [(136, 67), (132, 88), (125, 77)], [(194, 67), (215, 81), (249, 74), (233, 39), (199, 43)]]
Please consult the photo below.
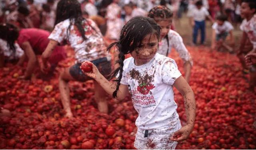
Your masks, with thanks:
[(240, 29), (246, 32), (253, 48), (256, 49), (256, 14), (249, 21), (244, 19), (240, 25)]

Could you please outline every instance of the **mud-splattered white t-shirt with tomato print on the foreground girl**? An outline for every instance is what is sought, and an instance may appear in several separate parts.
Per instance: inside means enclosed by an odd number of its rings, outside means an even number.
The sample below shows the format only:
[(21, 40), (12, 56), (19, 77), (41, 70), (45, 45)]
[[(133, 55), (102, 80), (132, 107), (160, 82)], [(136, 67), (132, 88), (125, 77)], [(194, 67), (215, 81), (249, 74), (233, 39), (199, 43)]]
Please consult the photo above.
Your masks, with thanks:
[(121, 84), (128, 85), (135, 110), (139, 113), (136, 126), (140, 129), (161, 129), (176, 125), (178, 114), (173, 84), (181, 76), (176, 62), (156, 53), (141, 66), (134, 58), (124, 60)]

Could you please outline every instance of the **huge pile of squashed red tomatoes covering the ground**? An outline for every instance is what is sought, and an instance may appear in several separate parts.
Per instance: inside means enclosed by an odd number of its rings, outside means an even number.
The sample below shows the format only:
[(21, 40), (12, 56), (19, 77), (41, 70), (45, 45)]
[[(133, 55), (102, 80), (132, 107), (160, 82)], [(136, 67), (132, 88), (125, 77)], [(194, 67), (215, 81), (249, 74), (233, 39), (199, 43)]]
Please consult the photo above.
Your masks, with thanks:
[[(256, 94), (247, 90), (235, 55), (189, 47), (194, 65), (190, 86), (196, 95), (196, 122), (188, 140), (176, 149), (255, 149)], [(182, 60), (172, 53), (182, 70)], [(135, 120), (132, 101), (108, 97), (109, 114), (94, 102), (93, 82), (70, 82), (74, 117), (67, 119), (58, 90), (58, 70), (74, 62), (60, 62), (50, 80), (36, 71), (32, 80), (21, 80), (25, 69), (8, 64), (0, 69), (0, 107), (11, 116), (0, 118), (0, 149), (134, 149)], [(186, 113), (182, 95), (175, 89), (182, 125)]]

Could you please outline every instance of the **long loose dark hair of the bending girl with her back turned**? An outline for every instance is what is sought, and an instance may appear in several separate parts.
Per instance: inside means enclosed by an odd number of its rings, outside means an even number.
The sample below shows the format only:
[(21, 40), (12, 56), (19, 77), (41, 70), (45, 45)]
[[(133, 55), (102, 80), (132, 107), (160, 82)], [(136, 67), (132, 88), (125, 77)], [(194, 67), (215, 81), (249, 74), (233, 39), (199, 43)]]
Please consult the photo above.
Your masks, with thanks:
[[(82, 17), (81, 6), (77, 0), (60, 0), (58, 2), (54, 26), (66, 19), (70, 19), (70, 21), (74, 19), (74, 25), (76, 25), (76, 27), (78, 28), (78, 31), (81, 33), (82, 38), (84, 40), (87, 40), (84, 35), (84, 28), (82, 26), (82, 22), (86, 21), (86, 19)], [(68, 36), (70, 34), (71, 25), (72, 23), (70, 22), (67, 30)]]

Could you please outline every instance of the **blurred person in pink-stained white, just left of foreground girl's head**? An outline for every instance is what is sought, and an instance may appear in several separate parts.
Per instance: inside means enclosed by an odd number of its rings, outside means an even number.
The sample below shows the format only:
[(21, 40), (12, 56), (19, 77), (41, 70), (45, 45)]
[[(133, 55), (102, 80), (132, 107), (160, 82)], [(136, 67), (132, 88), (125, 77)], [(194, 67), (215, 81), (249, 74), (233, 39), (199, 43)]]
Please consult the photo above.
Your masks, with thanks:
[(123, 21), (120, 18), (121, 8), (118, 6), (118, 2), (119, 0), (113, 0), (106, 10), (107, 31), (105, 36), (111, 41), (118, 39), (123, 26)]

